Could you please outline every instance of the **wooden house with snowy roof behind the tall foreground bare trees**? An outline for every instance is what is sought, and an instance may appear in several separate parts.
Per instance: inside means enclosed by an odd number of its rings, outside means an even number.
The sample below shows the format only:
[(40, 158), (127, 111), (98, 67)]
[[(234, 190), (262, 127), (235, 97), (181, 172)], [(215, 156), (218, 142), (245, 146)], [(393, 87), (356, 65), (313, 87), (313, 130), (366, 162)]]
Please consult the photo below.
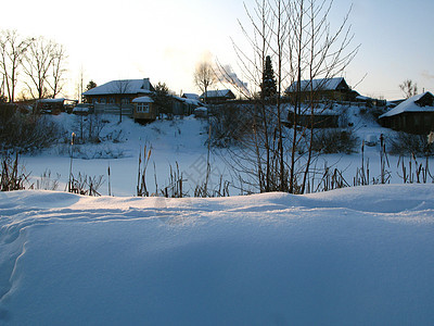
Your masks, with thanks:
[[(290, 101), (295, 101), (298, 90), (298, 83), (294, 82), (285, 90)], [(354, 101), (359, 95), (350, 89), (345, 78), (322, 78), (312, 80), (302, 80), (299, 84), (299, 100), (309, 101)]]

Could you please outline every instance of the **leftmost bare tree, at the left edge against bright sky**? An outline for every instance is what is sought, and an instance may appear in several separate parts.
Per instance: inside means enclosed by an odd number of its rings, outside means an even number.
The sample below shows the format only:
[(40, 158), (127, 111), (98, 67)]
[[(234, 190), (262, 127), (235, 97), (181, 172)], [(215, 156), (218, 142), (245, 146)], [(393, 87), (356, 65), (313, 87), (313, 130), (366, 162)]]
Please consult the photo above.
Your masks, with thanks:
[[(0, 74), (9, 102), (14, 102), (20, 68), (33, 39), (23, 38), (16, 30), (0, 32)], [(5, 92), (4, 92), (5, 95)]]

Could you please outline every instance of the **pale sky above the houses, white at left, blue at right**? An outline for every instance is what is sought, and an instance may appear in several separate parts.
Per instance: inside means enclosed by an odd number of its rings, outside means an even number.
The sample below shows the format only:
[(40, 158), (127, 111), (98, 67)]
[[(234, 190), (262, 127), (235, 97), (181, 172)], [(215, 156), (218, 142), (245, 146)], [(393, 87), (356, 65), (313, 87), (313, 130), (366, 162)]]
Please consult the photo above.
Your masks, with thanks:
[[(245, 1), (246, 5), (253, 0)], [(406, 78), (434, 91), (434, 1), (355, 0), (349, 23), (360, 51), (345, 77), (368, 96), (399, 98)], [(340, 22), (349, 2), (335, 0), (331, 18)], [(210, 53), (237, 67), (231, 37), (240, 42), (242, 1), (213, 0), (17, 0), (2, 4), (0, 28), (43, 35), (69, 54), (68, 95), (74, 96), (80, 67), (85, 79), (150, 77), (173, 90), (197, 91), (193, 72)]]

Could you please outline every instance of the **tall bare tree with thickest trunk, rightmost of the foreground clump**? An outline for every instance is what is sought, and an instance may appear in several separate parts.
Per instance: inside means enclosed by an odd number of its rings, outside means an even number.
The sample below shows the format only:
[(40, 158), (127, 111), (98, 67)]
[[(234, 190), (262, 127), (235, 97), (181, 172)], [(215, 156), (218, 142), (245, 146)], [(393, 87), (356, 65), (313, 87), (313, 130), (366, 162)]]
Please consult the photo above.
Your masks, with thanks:
[[(335, 32), (331, 30), (328, 21), (333, 1), (329, 0), (296, 0), (291, 7), (290, 21), (292, 22), (292, 34), (290, 36), (290, 53), (292, 60), (290, 65), (291, 80), (296, 80), (296, 96), (292, 120), (293, 124), (293, 143), (290, 167), (290, 192), (305, 192), (307, 177), (309, 175), (312, 158), (312, 138), (314, 138), (314, 112), (317, 109), (321, 89), (329, 80), (340, 76), (343, 71), (353, 61), (359, 47), (350, 47), (354, 35), (348, 26), (350, 10), (344, 16), (342, 23), (337, 25)], [(314, 86), (312, 80), (322, 78), (320, 85)], [(301, 98), (302, 79), (308, 80), (309, 97), (305, 100)], [(305, 103), (302, 103), (302, 102)], [(302, 129), (302, 137), (298, 136), (299, 126), (297, 121), (301, 114), (310, 111), (310, 125), (308, 130)], [(305, 127), (306, 129), (306, 127)], [(306, 134), (309, 137), (303, 137)], [(308, 139), (306, 145), (308, 149), (307, 162), (305, 164), (303, 178), (299, 180), (296, 176), (295, 164), (297, 158), (295, 150), (301, 141)]]

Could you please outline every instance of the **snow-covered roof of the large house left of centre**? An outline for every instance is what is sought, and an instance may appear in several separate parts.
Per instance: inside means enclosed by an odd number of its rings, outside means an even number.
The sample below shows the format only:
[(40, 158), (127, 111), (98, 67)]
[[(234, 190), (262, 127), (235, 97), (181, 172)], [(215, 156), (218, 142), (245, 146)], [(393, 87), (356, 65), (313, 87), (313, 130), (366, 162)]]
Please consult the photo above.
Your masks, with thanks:
[(84, 96), (100, 96), (115, 93), (151, 93), (154, 90), (149, 78), (112, 80), (85, 91)]

